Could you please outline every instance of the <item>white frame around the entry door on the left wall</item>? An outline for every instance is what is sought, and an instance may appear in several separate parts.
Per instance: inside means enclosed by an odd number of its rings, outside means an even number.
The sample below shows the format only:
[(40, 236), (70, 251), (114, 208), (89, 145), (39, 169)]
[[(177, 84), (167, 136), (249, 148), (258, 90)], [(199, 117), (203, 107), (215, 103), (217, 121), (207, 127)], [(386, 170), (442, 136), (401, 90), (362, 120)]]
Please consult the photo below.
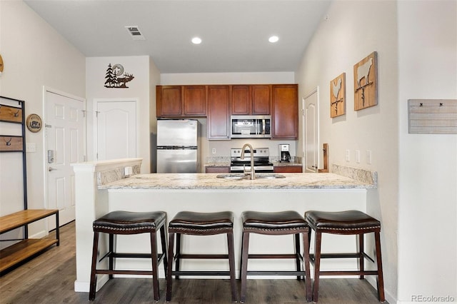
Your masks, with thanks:
[[(43, 86), (43, 121), (46, 123), (46, 92), (54, 93), (57, 95), (61, 95), (67, 98), (75, 99), (77, 101), (81, 101), (83, 103), (83, 111), (84, 111), (84, 122), (83, 122), (83, 153), (84, 153), (84, 161), (87, 161), (87, 118), (86, 118), (86, 99), (81, 98), (79, 96), (71, 95), (70, 93), (66, 93), (64, 91), (56, 90), (55, 88), (50, 88), (48, 86)], [(46, 125), (44, 126), (44, 132), (42, 132), (42, 146), (43, 146), (43, 180), (44, 180), (44, 208), (49, 208), (49, 196), (48, 196), (48, 174), (47, 168), (48, 163), (46, 162)]]

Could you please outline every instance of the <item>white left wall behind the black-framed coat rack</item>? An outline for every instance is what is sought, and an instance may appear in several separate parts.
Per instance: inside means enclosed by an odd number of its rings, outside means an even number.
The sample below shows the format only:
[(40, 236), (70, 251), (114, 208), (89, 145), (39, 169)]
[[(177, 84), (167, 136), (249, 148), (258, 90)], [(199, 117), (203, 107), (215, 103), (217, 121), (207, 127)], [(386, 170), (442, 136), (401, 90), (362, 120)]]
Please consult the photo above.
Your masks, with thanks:
[[(0, 46), (4, 60), (0, 95), (24, 100), (26, 116), (36, 113), (43, 118), (44, 86), (81, 98), (86, 95), (84, 55), (24, 2), (0, 1)], [(46, 208), (44, 131), (26, 131), (26, 141), (36, 144), (36, 152), (26, 154), (29, 208)], [(1, 153), (0, 160), (12, 157), (11, 153)], [(21, 163), (1, 161), (0, 215), (22, 209), (22, 201), (10, 199), (10, 185), (17, 184), (22, 184)], [(43, 229), (44, 225), (37, 223), (31, 226), (29, 234)]]

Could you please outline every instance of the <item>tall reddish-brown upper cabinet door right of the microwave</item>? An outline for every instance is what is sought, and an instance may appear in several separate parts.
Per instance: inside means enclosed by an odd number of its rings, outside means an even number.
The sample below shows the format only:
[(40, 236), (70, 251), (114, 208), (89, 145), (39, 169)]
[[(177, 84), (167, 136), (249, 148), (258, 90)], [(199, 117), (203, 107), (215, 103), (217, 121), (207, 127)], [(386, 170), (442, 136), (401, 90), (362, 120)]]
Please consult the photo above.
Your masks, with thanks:
[(275, 84), (271, 89), (272, 138), (298, 138), (298, 85)]

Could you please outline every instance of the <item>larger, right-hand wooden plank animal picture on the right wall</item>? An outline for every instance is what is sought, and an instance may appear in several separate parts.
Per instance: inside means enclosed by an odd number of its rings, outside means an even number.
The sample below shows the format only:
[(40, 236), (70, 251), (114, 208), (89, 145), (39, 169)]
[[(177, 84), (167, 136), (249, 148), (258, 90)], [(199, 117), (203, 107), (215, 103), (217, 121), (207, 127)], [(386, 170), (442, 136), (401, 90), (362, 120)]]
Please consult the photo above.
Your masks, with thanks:
[(373, 51), (354, 65), (354, 111), (378, 104), (377, 58)]

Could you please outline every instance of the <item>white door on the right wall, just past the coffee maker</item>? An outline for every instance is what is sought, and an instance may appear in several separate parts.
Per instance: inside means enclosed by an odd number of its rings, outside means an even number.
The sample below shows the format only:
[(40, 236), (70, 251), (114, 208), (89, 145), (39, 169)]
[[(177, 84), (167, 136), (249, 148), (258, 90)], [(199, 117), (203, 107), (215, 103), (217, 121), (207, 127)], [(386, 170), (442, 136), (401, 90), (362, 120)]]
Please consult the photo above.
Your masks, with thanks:
[(303, 172), (318, 172), (318, 88), (303, 98)]

